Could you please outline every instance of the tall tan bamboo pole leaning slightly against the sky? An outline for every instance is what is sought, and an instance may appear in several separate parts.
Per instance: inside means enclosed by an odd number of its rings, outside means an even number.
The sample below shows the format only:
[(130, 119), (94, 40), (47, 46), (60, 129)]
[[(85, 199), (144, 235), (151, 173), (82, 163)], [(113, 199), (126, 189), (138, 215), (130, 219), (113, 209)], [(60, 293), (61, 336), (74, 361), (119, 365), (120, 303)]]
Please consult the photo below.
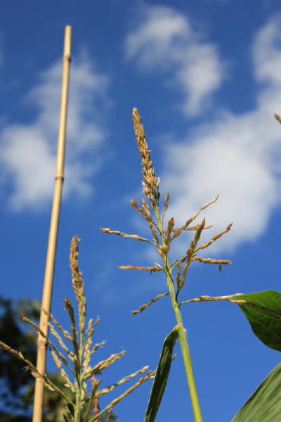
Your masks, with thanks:
[[(45, 335), (48, 335), (48, 314), (42, 309), (50, 312), (51, 296), (53, 288), (53, 269), (55, 265), (55, 250), (58, 238), (58, 221), (60, 217), (60, 203), (63, 191), (64, 166), (65, 166), (65, 132), (67, 122), (67, 99), (70, 79), (71, 61), (71, 35), (72, 27), (65, 27), (65, 43), (63, 49), (63, 80), (60, 99), (60, 122), (58, 127), (58, 151), (55, 167), (55, 187), (53, 191), (53, 207), (51, 212), (51, 223), (48, 235), (48, 248), (46, 255), (46, 267), (44, 287), (41, 302), (40, 328)], [(37, 371), (46, 371), (46, 340), (38, 335), (37, 340)], [(34, 408), (32, 422), (41, 422), (43, 415), (44, 384), (38, 379), (35, 381)]]

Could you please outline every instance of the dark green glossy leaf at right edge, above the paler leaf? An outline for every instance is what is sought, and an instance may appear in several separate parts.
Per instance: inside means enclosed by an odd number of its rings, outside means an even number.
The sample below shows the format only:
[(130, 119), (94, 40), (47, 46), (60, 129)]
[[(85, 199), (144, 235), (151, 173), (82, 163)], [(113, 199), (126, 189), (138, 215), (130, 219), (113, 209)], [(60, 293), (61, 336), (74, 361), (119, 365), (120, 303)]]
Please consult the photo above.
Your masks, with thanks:
[[(281, 293), (276, 290), (236, 296), (256, 336), (268, 347), (281, 351)], [(280, 416), (281, 421), (281, 416)]]

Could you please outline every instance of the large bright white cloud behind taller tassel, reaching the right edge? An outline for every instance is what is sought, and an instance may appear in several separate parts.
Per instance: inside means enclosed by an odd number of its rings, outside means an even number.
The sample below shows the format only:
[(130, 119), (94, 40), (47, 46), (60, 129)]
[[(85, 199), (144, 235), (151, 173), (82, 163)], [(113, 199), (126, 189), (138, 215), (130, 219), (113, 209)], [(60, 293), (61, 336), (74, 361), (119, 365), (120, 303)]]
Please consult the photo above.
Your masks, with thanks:
[(240, 115), (221, 113), (166, 150), (162, 179), (171, 193), (171, 215), (183, 222), (219, 193), (218, 203), (202, 212), (207, 223), (215, 225), (210, 233), (234, 222), (230, 234), (208, 252), (256, 239), (280, 203), (281, 128), (273, 120), (273, 113), (281, 110), (280, 25), (281, 18), (274, 18), (254, 38), (256, 108)]

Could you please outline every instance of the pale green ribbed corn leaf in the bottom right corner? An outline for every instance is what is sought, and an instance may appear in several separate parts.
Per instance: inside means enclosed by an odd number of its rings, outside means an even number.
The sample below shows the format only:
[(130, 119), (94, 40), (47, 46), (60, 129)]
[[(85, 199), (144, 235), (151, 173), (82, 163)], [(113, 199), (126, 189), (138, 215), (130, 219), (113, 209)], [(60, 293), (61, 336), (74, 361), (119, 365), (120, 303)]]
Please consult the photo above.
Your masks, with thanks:
[(281, 364), (275, 366), (231, 422), (280, 422)]

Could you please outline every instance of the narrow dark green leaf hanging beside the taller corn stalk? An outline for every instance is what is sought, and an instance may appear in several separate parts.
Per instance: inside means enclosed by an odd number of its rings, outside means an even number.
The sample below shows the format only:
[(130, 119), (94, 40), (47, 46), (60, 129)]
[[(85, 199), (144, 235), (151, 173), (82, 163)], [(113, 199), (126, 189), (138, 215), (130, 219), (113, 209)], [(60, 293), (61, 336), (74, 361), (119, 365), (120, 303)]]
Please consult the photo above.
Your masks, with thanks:
[(148, 407), (145, 412), (145, 418), (143, 422), (155, 421), (159, 405), (162, 400), (162, 396), (168, 381), (169, 372), (171, 368), (171, 360), (173, 358), (174, 345), (178, 340), (178, 327), (169, 333), (163, 343), (162, 352), (159, 358), (155, 379), (152, 383), (150, 391), (150, 397), (148, 399)]

